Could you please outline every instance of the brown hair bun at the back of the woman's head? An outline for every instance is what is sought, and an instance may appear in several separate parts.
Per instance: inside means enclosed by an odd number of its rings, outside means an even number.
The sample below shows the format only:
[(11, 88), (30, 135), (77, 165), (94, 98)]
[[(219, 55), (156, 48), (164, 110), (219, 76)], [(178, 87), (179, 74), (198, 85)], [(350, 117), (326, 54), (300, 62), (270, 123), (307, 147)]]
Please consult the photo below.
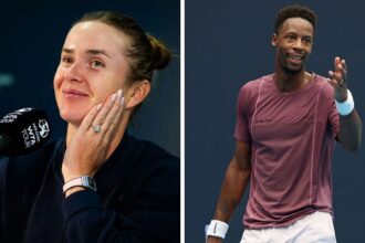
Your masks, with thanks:
[(150, 34), (147, 34), (152, 45), (150, 67), (153, 70), (163, 70), (171, 59), (171, 52), (167, 46)]

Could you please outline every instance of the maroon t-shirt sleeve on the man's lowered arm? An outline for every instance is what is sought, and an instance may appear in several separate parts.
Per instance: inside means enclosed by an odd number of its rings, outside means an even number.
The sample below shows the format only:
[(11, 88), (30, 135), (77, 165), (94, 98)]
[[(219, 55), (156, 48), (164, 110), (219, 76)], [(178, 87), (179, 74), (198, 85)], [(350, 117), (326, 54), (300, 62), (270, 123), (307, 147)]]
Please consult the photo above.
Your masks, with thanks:
[(251, 134), (249, 129), (249, 119), (248, 119), (248, 89), (247, 86), (242, 86), (237, 98), (237, 118), (236, 118), (236, 128), (234, 128), (234, 138), (238, 141), (244, 144), (251, 144)]

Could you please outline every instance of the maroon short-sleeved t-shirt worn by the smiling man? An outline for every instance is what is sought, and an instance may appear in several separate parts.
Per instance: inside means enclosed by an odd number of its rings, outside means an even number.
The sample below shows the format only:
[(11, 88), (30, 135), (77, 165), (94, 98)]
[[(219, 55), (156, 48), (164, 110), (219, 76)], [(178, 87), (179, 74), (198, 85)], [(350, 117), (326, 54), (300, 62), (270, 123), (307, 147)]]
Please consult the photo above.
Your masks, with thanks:
[(313, 75), (280, 93), (273, 74), (240, 89), (234, 137), (251, 146), (247, 229), (286, 226), (314, 211), (332, 213), (331, 160), (340, 130), (333, 87)]

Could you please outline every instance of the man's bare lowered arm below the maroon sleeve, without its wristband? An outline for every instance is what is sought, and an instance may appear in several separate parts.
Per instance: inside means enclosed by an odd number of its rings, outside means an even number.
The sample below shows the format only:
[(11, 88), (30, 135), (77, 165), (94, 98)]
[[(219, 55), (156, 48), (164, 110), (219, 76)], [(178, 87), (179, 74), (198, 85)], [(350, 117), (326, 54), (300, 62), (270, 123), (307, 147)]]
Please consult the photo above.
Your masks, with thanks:
[[(223, 184), (218, 198), (213, 219), (228, 222), (237, 205), (242, 199), (251, 175), (250, 146), (237, 141), (233, 158), (231, 159)], [(207, 243), (222, 242), (222, 239), (208, 236)]]

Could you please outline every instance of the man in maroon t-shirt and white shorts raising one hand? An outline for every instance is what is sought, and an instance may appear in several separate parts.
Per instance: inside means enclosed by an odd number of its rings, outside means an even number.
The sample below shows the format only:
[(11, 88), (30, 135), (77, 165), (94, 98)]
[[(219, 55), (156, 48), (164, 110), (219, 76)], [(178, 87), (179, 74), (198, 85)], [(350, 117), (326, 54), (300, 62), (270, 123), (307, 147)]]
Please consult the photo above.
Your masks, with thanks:
[(272, 45), (275, 72), (242, 86), (237, 139), (207, 242), (222, 242), (227, 222), (250, 179), (241, 243), (336, 242), (332, 221), (331, 160), (335, 141), (355, 151), (362, 122), (347, 89), (346, 62), (335, 57), (330, 77), (305, 71), (315, 13), (281, 9)]

